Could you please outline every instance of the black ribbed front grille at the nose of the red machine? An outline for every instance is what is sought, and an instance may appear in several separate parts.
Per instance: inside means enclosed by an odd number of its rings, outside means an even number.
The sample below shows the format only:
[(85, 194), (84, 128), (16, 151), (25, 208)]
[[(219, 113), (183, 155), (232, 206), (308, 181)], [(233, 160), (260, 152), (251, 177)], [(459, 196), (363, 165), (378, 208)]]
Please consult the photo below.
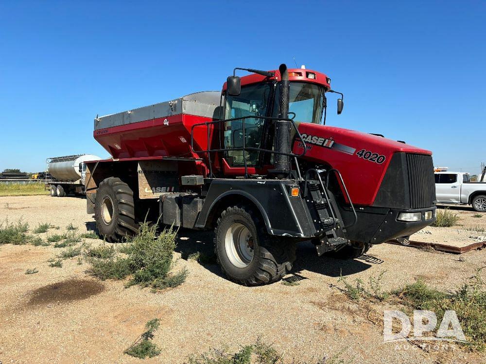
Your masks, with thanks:
[(432, 156), (407, 154), (410, 207), (422, 209), (434, 205), (435, 178)]

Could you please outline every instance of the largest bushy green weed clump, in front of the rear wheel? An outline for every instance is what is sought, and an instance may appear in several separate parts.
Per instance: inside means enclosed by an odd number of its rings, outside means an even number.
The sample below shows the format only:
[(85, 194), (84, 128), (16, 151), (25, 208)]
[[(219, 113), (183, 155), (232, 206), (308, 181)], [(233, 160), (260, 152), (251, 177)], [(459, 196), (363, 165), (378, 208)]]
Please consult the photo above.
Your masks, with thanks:
[(91, 274), (102, 280), (122, 280), (130, 276), (127, 287), (139, 284), (157, 290), (182, 284), (188, 274), (186, 269), (170, 273), (174, 267), (176, 232), (165, 229), (157, 235), (156, 230), (156, 225), (141, 224), (139, 233), (127, 238), (122, 251), (125, 257), (92, 257), (89, 260)]

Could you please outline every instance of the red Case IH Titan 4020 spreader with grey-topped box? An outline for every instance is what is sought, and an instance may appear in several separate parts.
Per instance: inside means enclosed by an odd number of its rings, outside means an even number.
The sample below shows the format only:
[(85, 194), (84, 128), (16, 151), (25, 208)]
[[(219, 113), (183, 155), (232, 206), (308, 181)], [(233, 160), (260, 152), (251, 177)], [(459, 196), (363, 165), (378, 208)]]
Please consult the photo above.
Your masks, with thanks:
[(326, 94), (344, 104), (322, 73), (244, 70), (222, 92), (95, 119), (113, 159), (87, 162), (87, 212), (108, 241), (146, 216), (214, 229), (227, 277), (259, 285), (291, 269), (298, 242), (356, 258), (434, 222), (430, 151), (324, 125)]

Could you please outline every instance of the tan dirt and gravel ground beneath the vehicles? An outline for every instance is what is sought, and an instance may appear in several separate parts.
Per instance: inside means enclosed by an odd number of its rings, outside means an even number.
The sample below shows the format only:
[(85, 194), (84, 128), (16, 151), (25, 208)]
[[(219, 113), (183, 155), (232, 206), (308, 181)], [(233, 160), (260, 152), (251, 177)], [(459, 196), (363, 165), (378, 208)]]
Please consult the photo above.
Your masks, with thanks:
[[(462, 208), (457, 213), (465, 226), (486, 225), (486, 216), (473, 218), (474, 213)], [(60, 226), (60, 232), (69, 223), (78, 232), (94, 229), (81, 198), (0, 198), (0, 221), (20, 217), (31, 229), (44, 222)], [(433, 229), (436, 239), (457, 228), (444, 229)], [(99, 244), (99, 240), (86, 241)], [(298, 285), (278, 282), (253, 288), (227, 281), (217, 265), (181, 259), (177, 266), (188, 268), (187, 281), (159, 293), (124, 288), (119, 281), (97, 281), (87, 274), (87, 263), (78, 264), (76, 258), (64, 261), (62, 268), (49, 267), (47, 261), (60, 250), (0, 246), (3, 364), (141, 363), (123, 350), (156, 317), (161, 325), (154, 342), (162, 353), (144, 363), (184, 363), (190, 354), (210, 347), (238, 349), (258, 337), (284, 352), (288, 360), (317, 361), (343, 351), (342, 356), (354, 358), (353, 363), (486, 363), (483, 355), (462, 349), (427, 352), (383, 343), (382, 310), (387, 306), (349, 301), (338, 283), (341, 273), (352, 281), (385, 271), (384, 289), (421, 278), (452, 290), (486, 265), (486, 250), (458, 256), (382, 244), (362, 259), (338, 261), (317, 257), (312, 245), (304, 243), (289, 275), (301, 279)], [(211, 232), (179, 232), (177, 257), (211, 250)], [(38, 273), (24, 274), (35, 267)]]

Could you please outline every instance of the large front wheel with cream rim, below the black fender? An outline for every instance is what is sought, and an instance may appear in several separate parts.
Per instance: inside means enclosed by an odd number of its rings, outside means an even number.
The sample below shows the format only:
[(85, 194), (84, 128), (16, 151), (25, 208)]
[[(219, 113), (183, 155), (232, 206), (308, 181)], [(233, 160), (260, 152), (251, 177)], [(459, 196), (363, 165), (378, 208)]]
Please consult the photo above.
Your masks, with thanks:
[(295, 242), (268, 235), (249, 207), (231, 206), (217, 221), (214, 252), (231, 281), (256, 286), (278, 281), (292, 269)]

